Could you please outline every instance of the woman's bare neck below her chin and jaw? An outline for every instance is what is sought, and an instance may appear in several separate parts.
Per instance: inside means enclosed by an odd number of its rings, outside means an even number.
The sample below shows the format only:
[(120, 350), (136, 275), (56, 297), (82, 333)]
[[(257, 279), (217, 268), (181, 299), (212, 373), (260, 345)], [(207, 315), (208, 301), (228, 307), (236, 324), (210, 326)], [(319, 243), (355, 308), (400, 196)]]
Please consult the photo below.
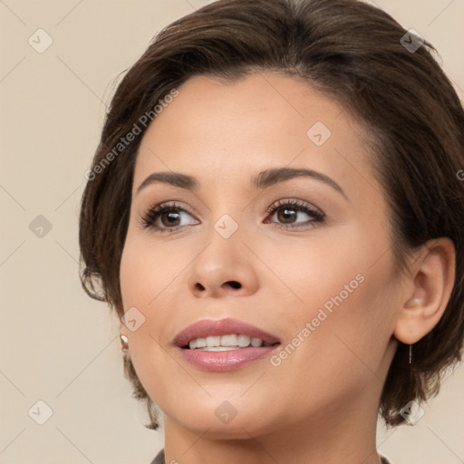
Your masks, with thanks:
[[(228, 429), (227, 439), (214, 426), (191, 430), (165, 415), (166, 463), (189, 464), (380, 464), (376, 451), (379, 391), (371, 398), (324, 408), (304, 423), (288, 418), (278, 430), (253, 433), (251, 427)], [(228, 424), (231, 426), (233, 422)], [(227, 427), (228, 427), (227, 426)]]

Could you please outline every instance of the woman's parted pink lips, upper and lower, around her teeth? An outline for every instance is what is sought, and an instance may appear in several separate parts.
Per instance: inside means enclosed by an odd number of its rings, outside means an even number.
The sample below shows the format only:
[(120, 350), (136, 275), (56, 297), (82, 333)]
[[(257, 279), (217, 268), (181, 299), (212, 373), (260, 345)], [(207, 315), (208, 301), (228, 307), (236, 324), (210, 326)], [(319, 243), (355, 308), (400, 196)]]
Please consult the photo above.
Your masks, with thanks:
[[(227, 335), (237, 333), (256, 337), (271, 346), (237, 348), (224, 352), (204, 352), (183, 348), (194, 338), (204, 338), (208, 335)], [(280, 340), (275, 335), (259, 329), (255, 325), (247, 324), (236, 319), (204, 319), (191, 324), (182, 330), (174, 339), (174, 345), (184, 361), (202, 371), (225, 372), (237, 370), (249, 362), (266, 358), (280, 345)]]

